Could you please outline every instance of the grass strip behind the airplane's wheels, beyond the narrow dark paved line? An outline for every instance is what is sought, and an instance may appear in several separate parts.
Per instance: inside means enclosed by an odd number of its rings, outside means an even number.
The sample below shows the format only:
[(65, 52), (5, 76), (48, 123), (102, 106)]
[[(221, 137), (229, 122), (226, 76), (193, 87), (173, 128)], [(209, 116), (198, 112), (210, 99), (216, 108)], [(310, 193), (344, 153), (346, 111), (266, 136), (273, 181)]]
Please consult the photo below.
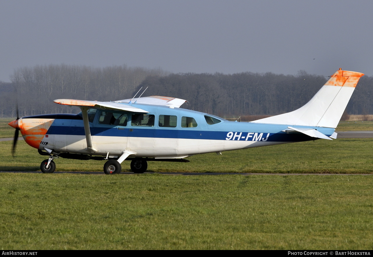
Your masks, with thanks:
[[(238, 173), (350, 173), (373, 174), (373, 139), (316, 140), (222, 152), (186, 158), (189, 163), (148, 162), (154, 172), (238, 172)], [(47, 156), (19, 141), (12, 158), (12, 142), (0, 142), (0, 170), (40, 170)], [(56, 171), (100, 171), (105, 161), (58, 158)], [(129, 161), (122, 171), (131, 171)]]

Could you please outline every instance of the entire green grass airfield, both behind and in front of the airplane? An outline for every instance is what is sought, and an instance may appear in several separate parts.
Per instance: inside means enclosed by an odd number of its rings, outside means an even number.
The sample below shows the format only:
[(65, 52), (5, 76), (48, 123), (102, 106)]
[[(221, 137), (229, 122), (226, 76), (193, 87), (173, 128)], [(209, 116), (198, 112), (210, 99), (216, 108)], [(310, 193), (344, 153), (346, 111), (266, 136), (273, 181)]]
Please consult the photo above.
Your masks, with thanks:
[[(373, 174), (372, 144), (316, 140), (195, 155), (149, 162), (155, 173), (130, 176), (0, 173), (0, 249), (370, 250), (373, 176), (361, 174)], [(0, 142), (0, 170), (39, 170), (46, 158), (24, 141), (12, 158), (11, 147)], [(55, 162), (57, 171), (103, 174), (104, 161)], [(178, 171), (354, 175), (159, 174)]]

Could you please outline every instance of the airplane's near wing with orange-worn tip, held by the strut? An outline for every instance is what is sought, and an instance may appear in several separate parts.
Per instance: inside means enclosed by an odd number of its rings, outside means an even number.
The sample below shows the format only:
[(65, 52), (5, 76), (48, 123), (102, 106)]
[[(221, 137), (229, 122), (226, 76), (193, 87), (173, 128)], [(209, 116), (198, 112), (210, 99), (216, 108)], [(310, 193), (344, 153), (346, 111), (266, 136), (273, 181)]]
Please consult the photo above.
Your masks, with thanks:
[(109, 110), (123, 110), (128, 112), (140, 112), (148, 113), (146, 110), (136, 108), (131, 105), (124, 105), (116, 102), (98, 102), (98, 101), (85, 101), (85, 100), (74, 100), (74, 99), (56, 99), (53, 102), (59, 103), (60, 105), (74, 105), (74, 106), (87, 106), (97, 109), (109, 109)]

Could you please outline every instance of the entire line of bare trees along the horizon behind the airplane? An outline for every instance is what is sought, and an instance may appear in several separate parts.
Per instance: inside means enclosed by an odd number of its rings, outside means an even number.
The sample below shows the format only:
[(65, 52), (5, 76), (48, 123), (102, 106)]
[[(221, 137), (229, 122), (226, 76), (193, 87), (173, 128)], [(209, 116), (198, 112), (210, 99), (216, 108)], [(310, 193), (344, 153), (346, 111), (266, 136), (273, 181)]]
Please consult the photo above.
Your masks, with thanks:
[[(148, 87), (143, 96), (178, 97), (188, 101), (183, 108), (218, 116), (276, 115), (303, 106), (327, 79), (306, 71), (295, 76), (250, 72), (167, 74), (161, 69), (125, 65), (106, 68), (44, 65), (19, 68), (11, 76), (12, 83), (0, 84), (0, 109), (2, 117), (14, 117), (18, 101), (21, 116), (71, 113), (78, 109), (57, 105), (53, 100), (120, 100), (133, 97), (140, 87), (142, 90)], [(347, 112), (373, 113), (372, 95), (373, 77), (364, 76)]]

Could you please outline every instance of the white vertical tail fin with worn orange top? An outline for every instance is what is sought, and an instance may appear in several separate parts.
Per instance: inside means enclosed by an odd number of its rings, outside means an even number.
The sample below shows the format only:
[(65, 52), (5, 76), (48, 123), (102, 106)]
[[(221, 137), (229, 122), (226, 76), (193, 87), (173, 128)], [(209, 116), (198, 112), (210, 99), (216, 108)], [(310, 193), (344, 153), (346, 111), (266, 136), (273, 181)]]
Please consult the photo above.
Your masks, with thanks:
[(292, 112), (252, 121), (336, 128), (363, 73), (338, 70), (304, 106)]

